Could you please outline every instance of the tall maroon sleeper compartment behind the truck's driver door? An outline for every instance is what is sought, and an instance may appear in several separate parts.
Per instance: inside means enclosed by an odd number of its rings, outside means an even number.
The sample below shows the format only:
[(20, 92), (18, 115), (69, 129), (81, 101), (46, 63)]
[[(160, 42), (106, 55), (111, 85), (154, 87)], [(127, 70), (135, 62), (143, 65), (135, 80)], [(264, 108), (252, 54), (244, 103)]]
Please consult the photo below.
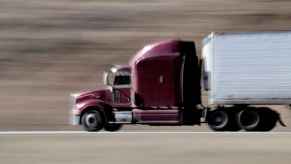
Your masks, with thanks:
[(194, 42), (148, 45), (130, 61), (133, 104), (185, 107), (200, 104), (200, 70)]

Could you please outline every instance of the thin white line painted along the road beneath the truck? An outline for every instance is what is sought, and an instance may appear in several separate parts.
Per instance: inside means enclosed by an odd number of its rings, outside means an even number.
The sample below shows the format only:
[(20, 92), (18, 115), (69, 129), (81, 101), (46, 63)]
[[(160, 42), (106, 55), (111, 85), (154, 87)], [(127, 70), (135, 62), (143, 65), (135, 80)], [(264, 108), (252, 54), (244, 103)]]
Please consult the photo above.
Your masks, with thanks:
[(86, 132), (86, 131), (0, 131), (0, 135), (55, 135), (55, 134), (213, 134), (213, 135), (291, 135), (291, 132), (189, 132), (189, 131), (119, 131), (119, 132)]

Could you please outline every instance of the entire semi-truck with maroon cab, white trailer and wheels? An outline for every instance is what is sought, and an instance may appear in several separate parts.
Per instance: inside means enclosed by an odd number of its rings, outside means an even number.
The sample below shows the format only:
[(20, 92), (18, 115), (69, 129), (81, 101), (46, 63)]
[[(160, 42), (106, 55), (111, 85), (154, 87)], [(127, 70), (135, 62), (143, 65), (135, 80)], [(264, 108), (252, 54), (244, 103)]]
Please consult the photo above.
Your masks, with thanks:
[[(104, 88), (71, 94), (71, 121), (86, 131), (124, 124), (270, 131), (272, 105), (291, 104), (291, 32), (211, 33), (149, 44), (104, 73)], [(202, 93), (208, 93), (202, 103)]]

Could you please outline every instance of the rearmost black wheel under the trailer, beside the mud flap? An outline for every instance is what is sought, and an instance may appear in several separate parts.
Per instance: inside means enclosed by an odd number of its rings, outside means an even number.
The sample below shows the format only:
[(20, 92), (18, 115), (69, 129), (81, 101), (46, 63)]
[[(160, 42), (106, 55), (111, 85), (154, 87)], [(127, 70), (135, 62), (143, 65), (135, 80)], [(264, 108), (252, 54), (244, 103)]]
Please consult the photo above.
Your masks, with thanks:
[(238, 123), (245, 131), (270, 131), (279, 119), (279, 114), (269, 108), (248, 108), (238, 114)]

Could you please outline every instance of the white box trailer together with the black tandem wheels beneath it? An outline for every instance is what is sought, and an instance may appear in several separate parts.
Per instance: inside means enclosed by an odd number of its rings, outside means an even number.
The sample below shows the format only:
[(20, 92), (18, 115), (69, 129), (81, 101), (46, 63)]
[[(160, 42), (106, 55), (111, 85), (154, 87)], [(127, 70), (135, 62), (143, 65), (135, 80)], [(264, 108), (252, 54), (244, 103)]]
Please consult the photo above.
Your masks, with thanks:
[(211, 33), (202, 58), (209, 104), (216, 106), (209, 108), (210, 128), (269, 131), (277, 121), (284, 125), (267, 105), (291, 104), (291, 32)]

